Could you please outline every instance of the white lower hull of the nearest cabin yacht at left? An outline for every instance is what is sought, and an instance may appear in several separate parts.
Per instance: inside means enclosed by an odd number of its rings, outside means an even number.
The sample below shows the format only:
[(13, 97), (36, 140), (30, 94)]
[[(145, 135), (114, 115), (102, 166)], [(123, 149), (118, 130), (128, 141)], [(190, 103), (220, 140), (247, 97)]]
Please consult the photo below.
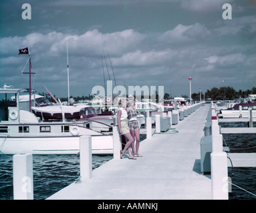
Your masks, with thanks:
[[(1, 154), (77, 154), (80, 136), (1, 137), (0, 151)], [(92, 154), (113, 154), (113, 137), (92, 136)]]

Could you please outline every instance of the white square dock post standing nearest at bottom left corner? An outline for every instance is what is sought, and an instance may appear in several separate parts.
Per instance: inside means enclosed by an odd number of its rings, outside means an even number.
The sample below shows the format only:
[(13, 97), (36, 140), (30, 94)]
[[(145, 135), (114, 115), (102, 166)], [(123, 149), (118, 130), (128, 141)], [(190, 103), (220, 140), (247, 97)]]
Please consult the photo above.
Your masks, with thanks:
[(33, 155), (13, 155), (13, 199), (33, 200)]

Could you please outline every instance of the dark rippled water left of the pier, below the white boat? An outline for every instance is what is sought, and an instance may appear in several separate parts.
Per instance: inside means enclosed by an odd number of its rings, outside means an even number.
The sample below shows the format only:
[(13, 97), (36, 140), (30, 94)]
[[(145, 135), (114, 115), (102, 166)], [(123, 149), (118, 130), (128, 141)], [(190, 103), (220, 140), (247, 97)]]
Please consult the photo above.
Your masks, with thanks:
[[(112, 155), (92, 156), (92, 169), (108, 162)], [(76, 155), (33, 155), (34, 199), (48, 198), (80, 176)], [(13, 156), (0, 155), (0, 200), (13, 199)]]

